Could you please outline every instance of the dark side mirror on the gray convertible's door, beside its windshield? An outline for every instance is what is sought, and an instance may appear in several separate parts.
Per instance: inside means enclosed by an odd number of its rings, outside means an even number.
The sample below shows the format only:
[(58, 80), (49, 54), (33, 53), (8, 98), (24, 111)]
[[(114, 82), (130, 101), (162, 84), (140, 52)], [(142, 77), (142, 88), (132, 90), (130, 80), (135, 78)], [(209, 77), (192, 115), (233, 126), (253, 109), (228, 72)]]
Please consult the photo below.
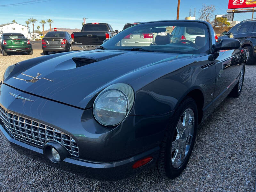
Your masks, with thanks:
[(240, 45), (241, 43), (237, 39), (224, 38), (219, 43), (216, 43), (214, 51), (238, 49)]

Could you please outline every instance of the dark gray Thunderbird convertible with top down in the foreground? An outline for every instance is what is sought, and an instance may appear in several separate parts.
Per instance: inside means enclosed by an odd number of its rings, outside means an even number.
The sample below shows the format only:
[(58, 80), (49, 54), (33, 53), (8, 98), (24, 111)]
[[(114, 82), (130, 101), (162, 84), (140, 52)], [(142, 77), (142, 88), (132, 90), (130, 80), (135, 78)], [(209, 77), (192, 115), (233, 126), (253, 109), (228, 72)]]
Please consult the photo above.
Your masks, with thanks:
[[(165, 31), (172, 26), (204, 36), (171, 43)], [(134, 44), (121, 46), (130, 34), (139, 34)], [(149, 36), (151, 44), (137, 46)], [(175, 178), (198, 124), (241, 93), (246, 57), (239, 47), (236, 39), (216, 42), (207, 22), (154, 21), (96, 50), (16, 63), (0, 85), (0, 129), (19, 153), (79, 176), (120, 180), (154, 167)]]

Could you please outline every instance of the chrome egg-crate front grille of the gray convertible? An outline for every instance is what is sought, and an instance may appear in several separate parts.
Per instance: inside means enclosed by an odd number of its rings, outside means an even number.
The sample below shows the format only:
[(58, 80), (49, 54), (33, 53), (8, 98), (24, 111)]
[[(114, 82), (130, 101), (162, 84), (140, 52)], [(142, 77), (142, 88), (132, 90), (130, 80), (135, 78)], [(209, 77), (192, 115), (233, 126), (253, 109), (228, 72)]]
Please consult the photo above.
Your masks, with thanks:
[(43, 148), (46, 142), (53, 140), (65, 147), (70, 155), (79, 156), (76, 141), (55, 128), (6, 111), (1, 106), (0, 119), (4, 130), (15, 140), (37, 148)]

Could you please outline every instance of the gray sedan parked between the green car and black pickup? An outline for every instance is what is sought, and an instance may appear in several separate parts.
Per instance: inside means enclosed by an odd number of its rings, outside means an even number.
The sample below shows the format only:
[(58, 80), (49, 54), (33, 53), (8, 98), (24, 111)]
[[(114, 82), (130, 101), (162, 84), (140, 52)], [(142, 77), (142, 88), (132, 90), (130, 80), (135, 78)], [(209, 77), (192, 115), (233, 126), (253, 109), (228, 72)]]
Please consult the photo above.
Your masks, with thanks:
[(42, 49), (44, 55), (49, 51), (71, 51), (72, 39), (66, 31), (49, 31), (42, 39)]

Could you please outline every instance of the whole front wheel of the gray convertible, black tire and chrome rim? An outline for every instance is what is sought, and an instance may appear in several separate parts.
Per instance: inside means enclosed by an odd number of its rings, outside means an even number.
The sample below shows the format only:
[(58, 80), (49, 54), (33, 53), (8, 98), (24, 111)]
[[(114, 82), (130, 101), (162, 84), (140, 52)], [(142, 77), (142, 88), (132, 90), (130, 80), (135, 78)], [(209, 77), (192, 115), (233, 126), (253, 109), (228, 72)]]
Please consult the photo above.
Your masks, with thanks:
[(158, 173), (178, 177), (188, 164), (196, 139), (198, 111), (195, 100), (186, 97), (174, 112), (160, 145)]

